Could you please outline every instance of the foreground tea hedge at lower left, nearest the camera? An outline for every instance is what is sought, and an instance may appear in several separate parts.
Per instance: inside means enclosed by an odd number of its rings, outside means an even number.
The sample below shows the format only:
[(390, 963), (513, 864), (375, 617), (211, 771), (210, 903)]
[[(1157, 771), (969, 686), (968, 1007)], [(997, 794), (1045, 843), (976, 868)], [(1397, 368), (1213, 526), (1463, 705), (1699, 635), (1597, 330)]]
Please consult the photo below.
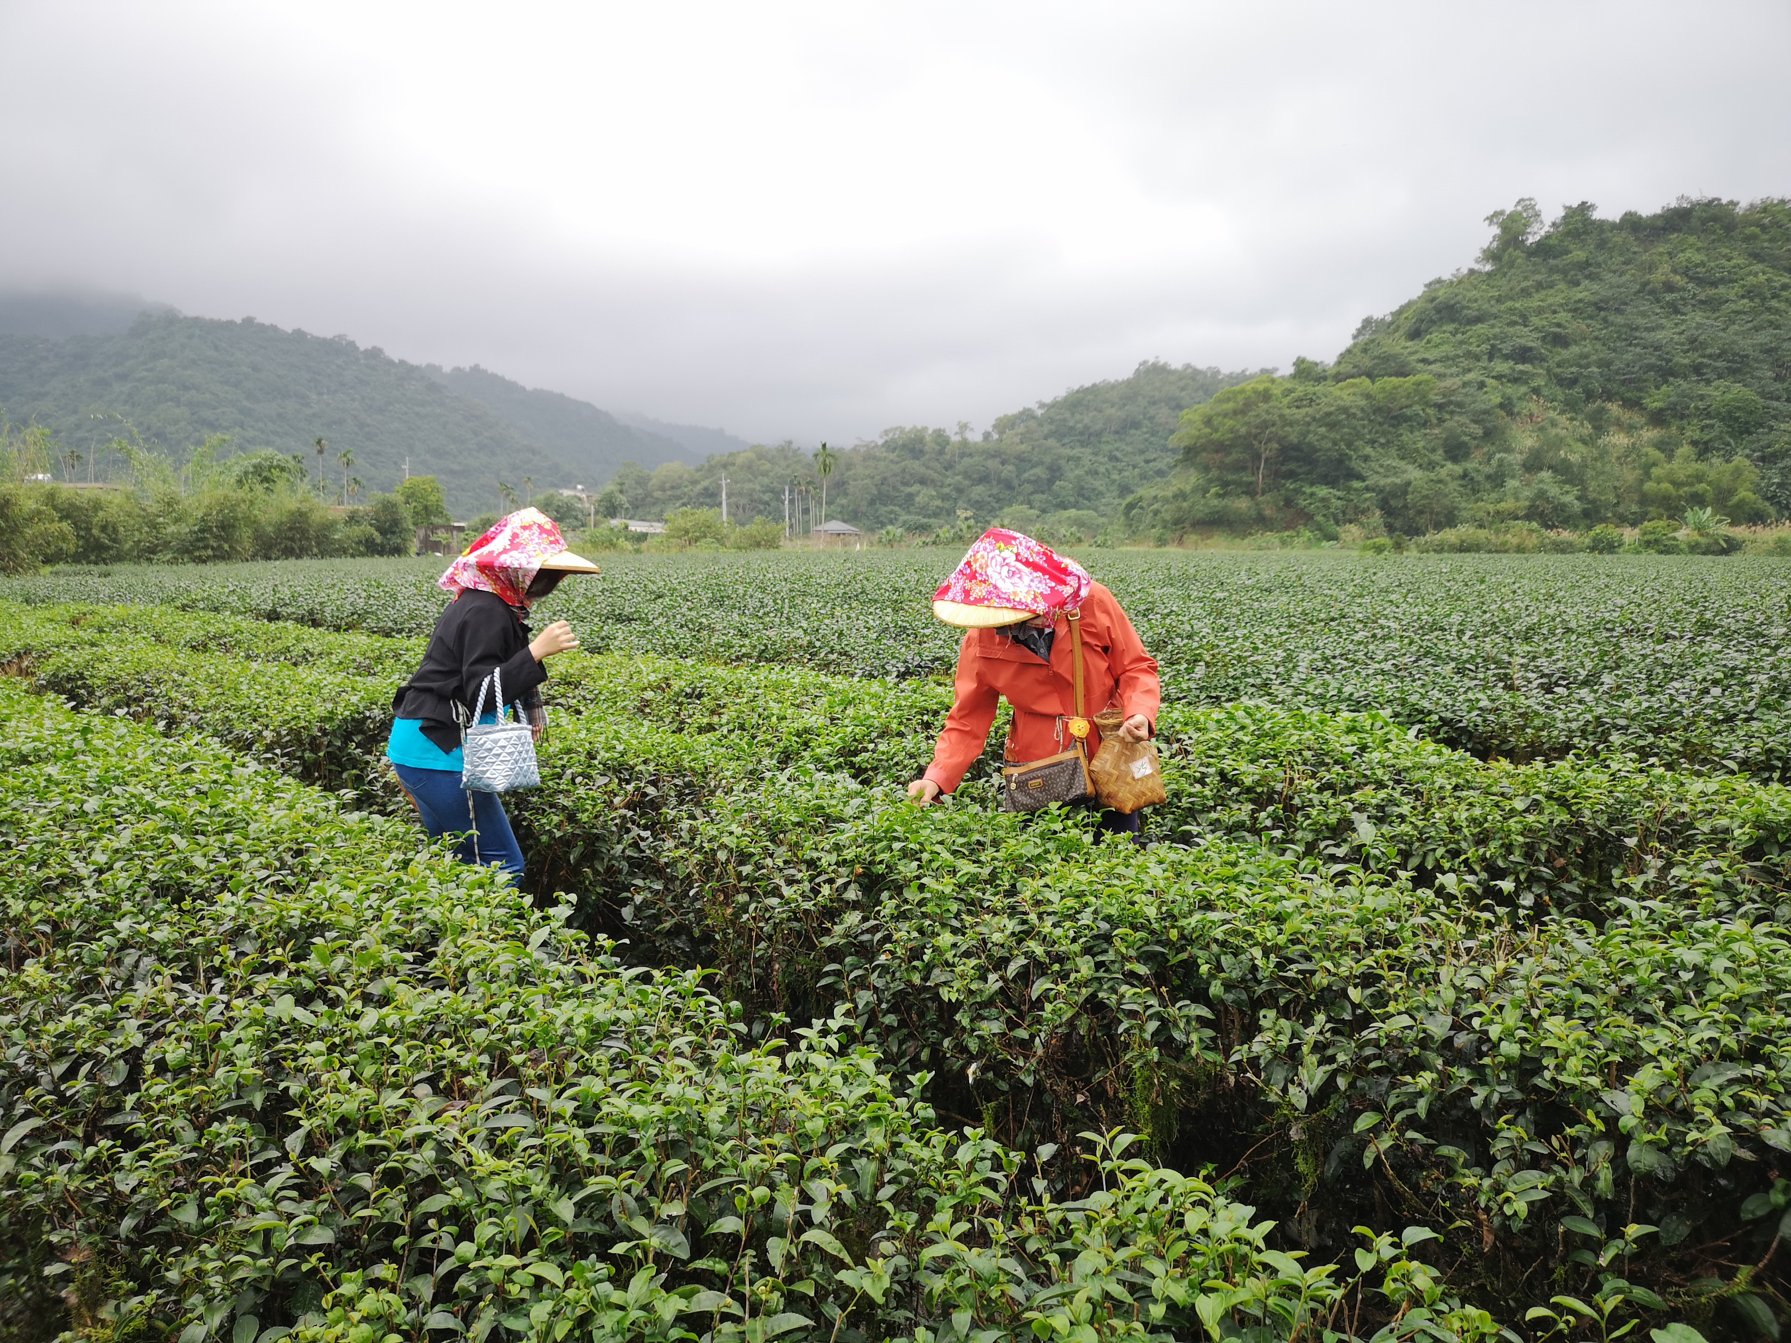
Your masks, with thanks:
[(1091, 1182), (947, 1133), (845, 1022), (752, 1040), (700, 976), (217, 747), (0, 713), (16, 1336), (1495, 1332), (1408, 1257), (1429, 1232), (1309, 1270), (1125, 1139)]

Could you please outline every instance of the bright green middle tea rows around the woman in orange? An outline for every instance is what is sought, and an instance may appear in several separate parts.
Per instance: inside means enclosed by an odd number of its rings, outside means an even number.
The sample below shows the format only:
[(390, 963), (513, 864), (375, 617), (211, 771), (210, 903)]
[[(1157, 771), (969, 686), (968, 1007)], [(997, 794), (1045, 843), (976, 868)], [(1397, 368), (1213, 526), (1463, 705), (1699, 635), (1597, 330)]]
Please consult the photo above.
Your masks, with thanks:
[[(0, 630), (47, 689), (365, 797), (416, 652), (365, 675), (369, 636), (176, 612), (14, 607)], [(754, 1017), (833, 1017), (1010, 1142), (1141, 1126), (1318, 1259), (1359, 1221), (1454, 1227), (1447, 1279), (1508, 1320), (1538, 1270), (1596, 1289), (1583, 1261), (1615, 1252), (1587, 1237), (1630, 1221), (1658, 1230), (1624, 1271), (1676, 1311), (1766, 1309), (1773, 1275), (1734, 1264), (1773, 1241), (1791, 1144), (1784, 790), (1184, 709), (1159, 825), (1189, 843), (1139, 852), (990, 813), (974, 784), (897, 804), (942, 711), (928, 682), (555, 670), (555, 786), (519, 808), (534, 883), (582, 892), (632, 960), (713, 965)]]

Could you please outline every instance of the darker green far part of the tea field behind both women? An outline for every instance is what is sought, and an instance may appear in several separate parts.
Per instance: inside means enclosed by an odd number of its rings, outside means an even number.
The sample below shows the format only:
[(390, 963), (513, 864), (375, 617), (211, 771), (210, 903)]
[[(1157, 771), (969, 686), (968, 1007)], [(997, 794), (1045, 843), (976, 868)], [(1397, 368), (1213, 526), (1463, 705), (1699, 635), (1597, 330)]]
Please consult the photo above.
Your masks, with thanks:
[[(790, 663), (858, 677), (949, 670), (938, 552), (613, 557), (566, 584), (593, 650)], [(1084, 555), (1184, 704), (1379, 711), (1481, 757), (1630, 752), (1784, 777), (1791, 566), (1598, 555)], [(0, 586), (29, 602), (176, 605), (426, 634), (441, 560), (140, 568)]]

